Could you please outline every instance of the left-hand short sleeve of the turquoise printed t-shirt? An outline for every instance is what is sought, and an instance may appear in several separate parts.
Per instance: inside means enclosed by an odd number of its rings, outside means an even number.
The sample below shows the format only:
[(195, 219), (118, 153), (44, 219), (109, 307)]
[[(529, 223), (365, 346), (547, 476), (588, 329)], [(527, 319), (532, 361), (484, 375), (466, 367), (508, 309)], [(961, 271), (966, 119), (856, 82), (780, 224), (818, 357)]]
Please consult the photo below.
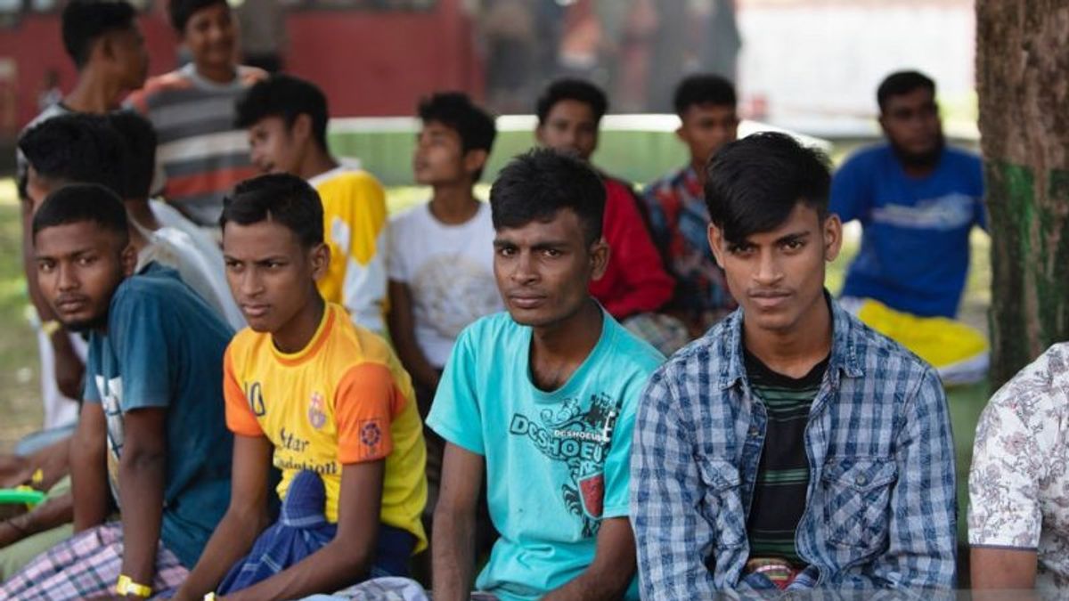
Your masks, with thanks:
[(446, 361), (446, 369), (438, 382), (438, 390), (431, 404), (427, 425), (450, 443), (477, 454), (485, 454), (482, 438), (482, 414), (476, 381), (477, 354), (472, 326), (461, 333), (453, 352)]

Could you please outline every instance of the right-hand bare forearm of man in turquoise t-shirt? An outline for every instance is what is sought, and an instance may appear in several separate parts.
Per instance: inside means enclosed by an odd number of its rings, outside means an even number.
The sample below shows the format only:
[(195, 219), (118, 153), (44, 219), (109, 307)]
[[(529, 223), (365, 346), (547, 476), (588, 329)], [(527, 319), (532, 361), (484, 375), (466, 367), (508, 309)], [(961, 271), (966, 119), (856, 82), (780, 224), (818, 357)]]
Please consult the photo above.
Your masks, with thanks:
[(604, 520), (594, 560), (582, 574), (545, 596), (545, 601), (620, 599), (635, 576), (635, 535), (626, 518)]

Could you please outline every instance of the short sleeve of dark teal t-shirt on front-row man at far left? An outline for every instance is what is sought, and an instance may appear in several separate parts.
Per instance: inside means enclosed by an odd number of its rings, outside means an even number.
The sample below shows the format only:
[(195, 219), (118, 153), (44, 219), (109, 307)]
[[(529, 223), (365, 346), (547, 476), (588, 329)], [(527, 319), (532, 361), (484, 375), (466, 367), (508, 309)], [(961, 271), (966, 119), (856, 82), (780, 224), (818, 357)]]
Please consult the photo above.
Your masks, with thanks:
[(108, 318), (108, 340), (120, 366), (123, 413), (161, 409), (171, 403), (175, 368), (182, 360), (181, 336), (164, 299), (140, 287), (120, 291)]

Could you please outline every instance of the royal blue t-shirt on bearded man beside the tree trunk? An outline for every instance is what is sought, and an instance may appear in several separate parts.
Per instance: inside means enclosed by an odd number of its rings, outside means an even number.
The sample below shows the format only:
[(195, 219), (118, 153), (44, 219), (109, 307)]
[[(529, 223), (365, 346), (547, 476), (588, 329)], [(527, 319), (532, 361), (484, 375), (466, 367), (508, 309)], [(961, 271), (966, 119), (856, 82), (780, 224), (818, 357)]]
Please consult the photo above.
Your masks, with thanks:
[(979, 157), (943, 151), (926, 178), (905, 175), (889, 145), (858, 152), (832, 181), (831, 211), (862, 222), (843, 296), (920, 317), (954, 318), (969, 273), (969, 233), (987, 228)]

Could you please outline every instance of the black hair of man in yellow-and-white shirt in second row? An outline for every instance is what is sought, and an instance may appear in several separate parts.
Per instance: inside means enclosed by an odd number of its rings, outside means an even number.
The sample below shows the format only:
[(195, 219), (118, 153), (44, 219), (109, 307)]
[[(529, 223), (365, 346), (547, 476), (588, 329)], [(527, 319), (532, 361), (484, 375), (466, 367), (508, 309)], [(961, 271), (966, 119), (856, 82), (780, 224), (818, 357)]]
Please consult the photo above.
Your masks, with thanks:
[(297, 117), (312, 120), (312, 136), (327, 150), (327, 97), (315, 84), (291, 75), (276, 74), (252, 84), (235, 105), (235, 124), (247, 129), (267, 117), (280, 117), (293, 127)]

